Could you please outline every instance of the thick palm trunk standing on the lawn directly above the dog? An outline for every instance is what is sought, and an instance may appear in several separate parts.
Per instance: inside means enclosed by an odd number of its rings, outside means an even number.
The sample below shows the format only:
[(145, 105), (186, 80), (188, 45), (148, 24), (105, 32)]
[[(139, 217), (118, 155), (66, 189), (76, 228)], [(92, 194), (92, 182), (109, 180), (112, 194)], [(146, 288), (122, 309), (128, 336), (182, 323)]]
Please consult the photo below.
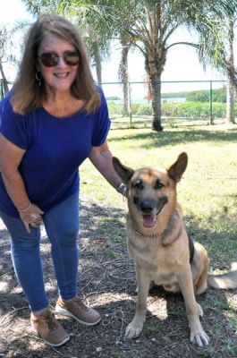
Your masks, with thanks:
[(161, 81), (159, 74), (153, 74), (150, 76), (151, 85), (151, 105), (152, 105), (152, 128), (154, 131), (162, 132), (163, 127), (161, 125)]

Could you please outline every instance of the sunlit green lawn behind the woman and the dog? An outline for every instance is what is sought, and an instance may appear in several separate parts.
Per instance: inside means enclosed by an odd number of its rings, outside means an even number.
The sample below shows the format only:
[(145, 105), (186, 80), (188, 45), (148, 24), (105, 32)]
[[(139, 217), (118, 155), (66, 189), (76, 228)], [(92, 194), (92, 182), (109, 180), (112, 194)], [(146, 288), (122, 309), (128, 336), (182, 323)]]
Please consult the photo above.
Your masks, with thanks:
[[(108, 142), (114, 156), (133, 168), (168, 167), (186, 151), (189, 164), (178, 184), (178, 199), (189, 233), (207, 247), (214, 270), (224, 269), (236, 260), (236, 125), (166, 127), (164, 132), (111, 130)], [(81, 166), (80, 175), (81, 192), (95, 196), (107, 209), (108, 218), (114, 209), (126, 210), (123, 197), (106, 183), (89, 160)], [(118, 219), (124, 222), (123, 215)]]

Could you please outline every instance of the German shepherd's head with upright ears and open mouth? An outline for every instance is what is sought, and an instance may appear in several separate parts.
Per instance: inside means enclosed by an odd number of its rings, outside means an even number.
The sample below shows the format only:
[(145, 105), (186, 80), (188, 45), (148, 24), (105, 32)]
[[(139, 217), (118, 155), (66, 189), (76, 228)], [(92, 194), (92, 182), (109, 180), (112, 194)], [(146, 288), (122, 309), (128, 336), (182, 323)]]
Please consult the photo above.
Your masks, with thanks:
[(140, 230), (157, 230), (161, 222), (171, 217), (176, 207), (176, 183), (181, 180), (187, 164), (188, 156), (184, 152), (169, 169), (144, 167), (133, 170), (113, 158), (116, 173), (127, 185), (130, 215)]

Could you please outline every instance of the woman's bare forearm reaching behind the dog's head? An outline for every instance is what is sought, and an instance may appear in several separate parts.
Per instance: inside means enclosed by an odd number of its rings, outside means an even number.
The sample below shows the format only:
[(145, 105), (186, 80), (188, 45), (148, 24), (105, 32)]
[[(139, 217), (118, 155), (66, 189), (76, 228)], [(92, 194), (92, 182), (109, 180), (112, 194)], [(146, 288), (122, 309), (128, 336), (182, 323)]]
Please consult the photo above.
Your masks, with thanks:
[[(92, 164), (96, 166), (97, 170), (106, 178), (107, 182), (117, 190), (121, 183), (121, 178), (114, 170), (112, 158), (112, 153), (106, 142), (99, 147), (92, 147), (89, 155)], [(124, 192), (121, 193), (124, 194)]]

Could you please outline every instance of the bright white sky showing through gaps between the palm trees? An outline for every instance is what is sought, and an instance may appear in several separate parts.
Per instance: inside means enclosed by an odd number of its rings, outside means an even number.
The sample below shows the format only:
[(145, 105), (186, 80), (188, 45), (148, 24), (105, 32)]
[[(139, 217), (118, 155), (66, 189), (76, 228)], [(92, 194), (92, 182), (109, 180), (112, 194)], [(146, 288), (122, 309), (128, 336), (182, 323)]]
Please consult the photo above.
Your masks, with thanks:
[[(30, 14), (27, 13), (25, 5), (21, 0), (0, 0), (0, 25), (13, 24), (14, 21), (23, 19), (30, 20)], [(179, 40), (189, 40), (190, 34), (186, 30), (179, 30), (176, 32), (176, 38)], [(22, 41), (21, 39), (19, 40)], [(114, 44), (113, 53), (103, 64), (102, 81), (103, 82), (116, 82), (118, 81), (118, 67), (120, 60), (121, 48), (119, 44)], [(15, 69), (16, 66), (14, 66)], [(7, 68), (6, 72), (11, 81), (13, 81), (16, 71), (13, 68)], [(92, 69), (94, 78), (96, 78), (95, 69)], [(144, 70), (144, 57), (138, 51), (133, 51), (129, 54), (129, 73), (130, 81), (145, 81), (146, 73)], [(224, 76), (210, 68), (205, 72), (199, 64), (199, 56), (193, 47), (189, 46), (174, 46), (168, 51), (167, 60), (165, 64), (165, 71), (162, 74), (162, 81), (217, 81), (225, 80)], [(164, 83), (163, 91), (179, 91), (179, 90), (192, 90), (203, 88), (204, 84), (198, 83)], [(205, 84), (206, 86), (206, 84)], [(207, 88), (209, 83), (207, 83)], [(219, 86), (219, 83), (216, 83)], [(220, 87), (220, 86), (219, 86)], [(116, 86), (117, 89), (117, 86)], [(107, 92), (113, 92), (113, 95), (121, 95), (121, 90), (115, 90), (113, 85), (106, 85)], [(114, 91), (116, 93), (114, 93)], [(133, 91), (144, 91), (144, 86), (133, 85)]]

